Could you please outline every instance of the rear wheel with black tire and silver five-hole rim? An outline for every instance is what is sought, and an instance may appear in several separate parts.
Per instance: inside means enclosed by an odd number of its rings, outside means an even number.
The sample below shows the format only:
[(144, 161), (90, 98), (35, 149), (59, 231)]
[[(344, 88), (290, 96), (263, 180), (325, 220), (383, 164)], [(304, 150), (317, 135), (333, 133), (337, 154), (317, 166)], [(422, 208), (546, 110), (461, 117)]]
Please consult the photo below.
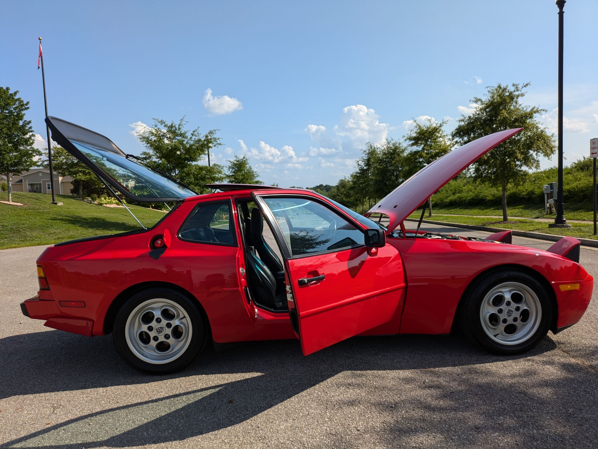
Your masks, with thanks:
[(112, 335), (118, 353), (133, 368), (167, 374), (196, 359), (206, 340), (206, 325), (193, 300), (170, 289), (151, 288), (123, 304)]

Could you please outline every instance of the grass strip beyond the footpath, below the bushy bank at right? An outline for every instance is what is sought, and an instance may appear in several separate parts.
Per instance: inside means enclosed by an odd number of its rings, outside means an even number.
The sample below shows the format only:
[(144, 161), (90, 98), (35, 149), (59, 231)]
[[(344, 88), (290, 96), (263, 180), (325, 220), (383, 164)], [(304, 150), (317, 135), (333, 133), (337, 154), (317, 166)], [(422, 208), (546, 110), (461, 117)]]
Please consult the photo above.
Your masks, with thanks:
[[(484, 206), (462, 206), (462, 207), (437, 207), (434, 206), (432, 198), (432, 212), (442, 215), (443, 213), (454, 213), (456, 215), (496, 215), (502, 217), (502, 206), (499, 203), (495, 207)], [(554, 218), (554, 213), (544, 215), (544, 207), (541, 204), (518, 204), (508, 206), (509, 216), (521, 216), (526, 218)], [(417, 217), (419, 218), (419, 216)], [(565, 204), (565, 218), (568, 220), (593, 220), (594, 212), (581, 207), (580, 204)]]

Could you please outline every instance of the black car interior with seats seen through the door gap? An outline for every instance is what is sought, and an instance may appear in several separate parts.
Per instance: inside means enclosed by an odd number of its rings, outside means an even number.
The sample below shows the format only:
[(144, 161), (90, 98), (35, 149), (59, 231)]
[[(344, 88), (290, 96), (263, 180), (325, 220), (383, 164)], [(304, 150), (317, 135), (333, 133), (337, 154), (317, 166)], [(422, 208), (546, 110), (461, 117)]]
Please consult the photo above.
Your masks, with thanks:
[[(237, 210), (252, 300), (268, 310), (287, 311), (284, 265), (277, 251), (264, 238), (264, 218), (260, 209), (255, 207), (253, 201), (239, 201)], [(271, 233), (271, 230), (267, 228), (266, 232)], [(273, 234), (268, 240), (274, 242)]]

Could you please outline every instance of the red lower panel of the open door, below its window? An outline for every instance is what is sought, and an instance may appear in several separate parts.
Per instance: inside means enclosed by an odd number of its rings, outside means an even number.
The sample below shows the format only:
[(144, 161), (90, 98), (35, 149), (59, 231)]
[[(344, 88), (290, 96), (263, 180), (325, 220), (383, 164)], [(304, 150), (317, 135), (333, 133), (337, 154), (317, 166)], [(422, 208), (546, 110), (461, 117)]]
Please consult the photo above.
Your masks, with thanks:
[[(401, 256), (386, 245), (375, 257), (363, 248), (287, 261), (301, 350), (311, 354), (389, 322), (402, 309)], [(299, 279), (324, 279), (299, 285)], [(398, 329), (396, 329), (398, 332)]]

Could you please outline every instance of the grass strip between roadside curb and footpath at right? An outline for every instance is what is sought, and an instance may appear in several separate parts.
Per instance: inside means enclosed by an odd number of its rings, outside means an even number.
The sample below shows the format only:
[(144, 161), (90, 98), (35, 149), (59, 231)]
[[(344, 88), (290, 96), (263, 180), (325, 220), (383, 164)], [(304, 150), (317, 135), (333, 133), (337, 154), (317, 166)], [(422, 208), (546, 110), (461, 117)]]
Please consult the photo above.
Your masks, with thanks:
[[(453, 213), (453, 212), (451, 212)], [(409, 218), (419, 219), (421, 212), (412, 213)], [(491, 213), (484, 213), (484, 215), (495, 215)], [(501, 214), (502, 215), (502, 214)], [(434, 211), (434, 215), (428, 217), (427, 214), (424, 219), (433, 221), (446, 221), (449, 223), (462, 223), (480, 226), (489, 226), (493, 228), (505, 228), (514, 229), (518, 231), (533, 231), (536, 233), (544, 234), (555, 234), (557, 236), (571, 236), (571, 237), (584, 237), (585, 239), (597, 239), (598, 236), (594, 236), (594, 225), (591, 223), (572, 223), (571, 228), (549, 228), (547, 222), (531, 221), (531, 220), (509, 220), (508, 222), (501, 222), (493, 218), (484, 218), (481, 216), (450, 216), (440, 215)], [(411, 222), (410, 228), (413, 228), (413, 222)]]

